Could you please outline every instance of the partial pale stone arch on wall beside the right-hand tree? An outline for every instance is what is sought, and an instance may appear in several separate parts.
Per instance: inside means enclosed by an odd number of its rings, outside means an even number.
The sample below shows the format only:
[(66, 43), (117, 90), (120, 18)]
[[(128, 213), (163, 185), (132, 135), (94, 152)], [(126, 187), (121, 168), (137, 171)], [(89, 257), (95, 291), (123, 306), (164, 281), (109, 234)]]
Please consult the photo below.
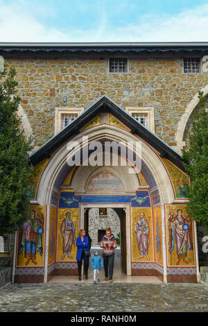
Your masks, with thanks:
[[(200, 89), (200, 92), (203, 92), (204, 96), (208, 94), (208, 85)], [(187, 122), (189, 121), (189, 117), (191, 116), (191, 113), (196, 108), (196, 105), (198, 105), (199, 99), (198, 99), (198, 93), (193, 96), (192, 100), (187, 105), (187, 108), (184, 111), (184, 114), (182, 114), (182, 117), (180, 118), (180, 121), (177, 125), (177, 133), (175, 135), (175, 141), (176, 141), (176, 150), (181, 151), (184, 146), (186, 146), (185, 141), (183, 141), (184, 137), (184, 131), (187, 126)]]

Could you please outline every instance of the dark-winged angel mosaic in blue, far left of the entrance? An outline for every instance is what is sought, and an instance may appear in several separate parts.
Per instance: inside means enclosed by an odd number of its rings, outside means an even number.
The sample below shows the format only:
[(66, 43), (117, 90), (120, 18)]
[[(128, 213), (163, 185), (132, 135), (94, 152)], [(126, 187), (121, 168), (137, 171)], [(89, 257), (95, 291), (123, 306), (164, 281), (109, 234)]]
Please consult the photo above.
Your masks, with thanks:
[(24, 250), (24, 257), (27, 259), (26, 265), (31, 260), (37, 264), (36, 254), (40, 252), (42, 256), (42, 234), (44, 233), (44, 215), (42, 212), (36, 213), (31, 209), (28, 220), (22, 225), (19, 231), (19, 254)]

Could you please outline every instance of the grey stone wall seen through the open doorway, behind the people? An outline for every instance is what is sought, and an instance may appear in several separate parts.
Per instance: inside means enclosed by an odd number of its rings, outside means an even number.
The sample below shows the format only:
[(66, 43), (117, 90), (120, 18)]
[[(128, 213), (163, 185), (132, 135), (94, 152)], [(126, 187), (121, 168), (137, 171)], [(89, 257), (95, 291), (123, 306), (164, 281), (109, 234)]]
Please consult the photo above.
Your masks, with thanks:
[(107, 217), (99, 216), (98, 208), (89, 209), (89, 236), (92, 239), (92, 246), (98, 243), (98, 230), (111, 228), (116, 238), (120, 232), (120, 219), (112, 208), (107, 208)]

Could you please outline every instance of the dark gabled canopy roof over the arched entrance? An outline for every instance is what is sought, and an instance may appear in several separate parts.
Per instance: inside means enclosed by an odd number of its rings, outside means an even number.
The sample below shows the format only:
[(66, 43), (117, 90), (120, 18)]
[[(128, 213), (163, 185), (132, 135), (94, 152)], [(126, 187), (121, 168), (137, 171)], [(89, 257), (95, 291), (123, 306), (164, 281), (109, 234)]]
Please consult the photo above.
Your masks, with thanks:
[(54, 135), (49, 141), (46, 141), (44, 145), (31, 154), (31, 162), (33, 165), (40, 163), (45, 157), (50, 157), (51, 153), (64, 144), (67, 139), (77, 135), (78, 130), (83, 128), (89, 121), (94, 119), (100, 112), (110, 112), (117, 119), (119, 119), (125, 126), (130, 128), (132, 134), (136, 134), (141, 139), (144, 139), (150, 146), (153, 146), (159, 151), (162, 157), (166, 157), (173, 162), (176, 166), (184, 171), (182, 165), (182, 157), (168, 146), (162, 139), (157, 137), (153, 132), (141, 125), (135, 118), (133, 118), (128, 112), (125, 112), (122, 108), (114, 103), (107, 96), (101, 97), (94, 105), (85, 110), (75, 120), (73, 120), (67, 127)]

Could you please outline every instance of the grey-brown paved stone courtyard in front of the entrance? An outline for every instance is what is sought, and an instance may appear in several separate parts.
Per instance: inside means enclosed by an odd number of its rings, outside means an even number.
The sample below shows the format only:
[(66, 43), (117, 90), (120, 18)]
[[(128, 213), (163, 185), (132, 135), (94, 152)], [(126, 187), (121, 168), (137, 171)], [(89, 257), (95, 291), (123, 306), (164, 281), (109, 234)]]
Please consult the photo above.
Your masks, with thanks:
[(0, 312), (208, 311), (203, 284), (8, 284)]

